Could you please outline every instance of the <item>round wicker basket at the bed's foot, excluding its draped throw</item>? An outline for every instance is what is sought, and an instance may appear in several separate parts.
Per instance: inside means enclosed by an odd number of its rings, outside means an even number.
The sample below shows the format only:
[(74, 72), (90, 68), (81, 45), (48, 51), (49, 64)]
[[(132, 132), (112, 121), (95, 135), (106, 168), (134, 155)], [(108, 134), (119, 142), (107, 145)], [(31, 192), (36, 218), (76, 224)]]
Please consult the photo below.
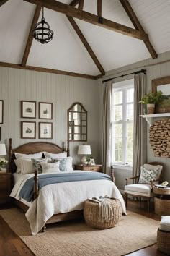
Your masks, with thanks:
[(113, 216), (111, 220), (99, 221), (99, 203), (86, 200), (84, 204), (84, 219), (86, 224), (97, 229), (109, 229), (117, 225), (122, 216), (120, 200), (107, 199), (112, 207)]

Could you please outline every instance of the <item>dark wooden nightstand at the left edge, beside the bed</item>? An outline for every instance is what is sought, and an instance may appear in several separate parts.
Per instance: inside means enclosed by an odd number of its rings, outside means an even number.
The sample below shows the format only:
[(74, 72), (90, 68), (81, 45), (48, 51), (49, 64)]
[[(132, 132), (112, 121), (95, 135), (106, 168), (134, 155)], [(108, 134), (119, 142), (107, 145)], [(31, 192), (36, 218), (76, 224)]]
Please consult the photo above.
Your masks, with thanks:
[(12, 173), (0, 171), (0, 203), (9, 201), (12, 187)]

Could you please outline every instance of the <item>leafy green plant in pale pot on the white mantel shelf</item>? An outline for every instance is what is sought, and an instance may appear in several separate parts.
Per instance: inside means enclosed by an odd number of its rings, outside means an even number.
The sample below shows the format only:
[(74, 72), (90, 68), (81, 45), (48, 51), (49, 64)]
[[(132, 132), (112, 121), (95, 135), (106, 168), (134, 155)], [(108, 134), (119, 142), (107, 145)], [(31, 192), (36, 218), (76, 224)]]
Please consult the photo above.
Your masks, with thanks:
[(158, 90), (156, 93), (148, 93), (143, 96), (140, 103), (146, 104), (147, 114), (154, 114), (155, 105), (163, 101), (164, 95), (161, 90)]

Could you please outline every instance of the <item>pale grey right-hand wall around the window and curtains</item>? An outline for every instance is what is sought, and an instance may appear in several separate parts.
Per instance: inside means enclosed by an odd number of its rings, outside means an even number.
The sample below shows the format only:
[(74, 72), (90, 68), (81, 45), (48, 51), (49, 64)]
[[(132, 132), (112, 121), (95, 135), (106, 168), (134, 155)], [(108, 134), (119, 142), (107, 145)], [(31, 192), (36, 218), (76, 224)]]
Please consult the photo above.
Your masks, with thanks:
[[(170, 75), (170, 51), (164, 54), (159, 54), (158, 59), (146, 59), (145, 61), (138, 61), (134, 64), (121, 67), (120, 69), (115, 69), (110, 72), (107, 72), (104, 79), (117, 77), (121, 74), (128, 74), (131, 72), (138, 71), (140, 69), (146, 69), (146, 85), (147, 85), (147, 92), (151, 91), (151, 80), (156, 79), (158, 77), (165, 77)], [(167, 63), (163, 64), (156, 64), (159, 61), (168, 61)], [(156, 64), (154, 66), (148, 67), (148, 65)], [(120, 82), (122, 80), (131, 79), (133, 75), (127, 77), (120, 77), (115, 79), (115, 82)], [(102, 80), (99, 80), (99, 101), (102, 101), (103, 95), (103, 84)], [(102, 122), (102, 104), (99, 105), (100, 117), (99, 121)], [(149, 128), (149, 127), (148, 127)], [(102, 134), (102, 127), (99, 127), (99, 134)], [(148, 135), (148, 131), (147, 131)], [(99, 137), (99, 148), (102, 148), (102, 137)], [(148, 162), (161, 162), (164, 164), (164, 180), (167, 180), (170, 183), (170, 158), (155, 158), (153, 156), (153, 151), (151, 150), (151, 146), (149, 144), (149, 139), (147, 137), (147, 161)], [(102, 156), (102, 151), (99, 153), (99, 157)], [(125, 177), (130, 177), (132, 175), (132, 171), (127, 170), (115, 170), (115, 183), (119, 189), (124, 189), (125, 187)]]

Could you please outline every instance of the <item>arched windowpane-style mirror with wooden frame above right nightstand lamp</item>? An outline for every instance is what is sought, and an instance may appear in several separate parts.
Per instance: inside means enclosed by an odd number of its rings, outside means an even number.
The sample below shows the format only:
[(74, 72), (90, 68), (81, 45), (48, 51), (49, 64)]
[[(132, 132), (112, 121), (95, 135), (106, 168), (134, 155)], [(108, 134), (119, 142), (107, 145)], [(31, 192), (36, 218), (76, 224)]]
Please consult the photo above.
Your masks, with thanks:
[(68, 109), (68, 140), (87, 140), (87, 111), (79, 102)]

